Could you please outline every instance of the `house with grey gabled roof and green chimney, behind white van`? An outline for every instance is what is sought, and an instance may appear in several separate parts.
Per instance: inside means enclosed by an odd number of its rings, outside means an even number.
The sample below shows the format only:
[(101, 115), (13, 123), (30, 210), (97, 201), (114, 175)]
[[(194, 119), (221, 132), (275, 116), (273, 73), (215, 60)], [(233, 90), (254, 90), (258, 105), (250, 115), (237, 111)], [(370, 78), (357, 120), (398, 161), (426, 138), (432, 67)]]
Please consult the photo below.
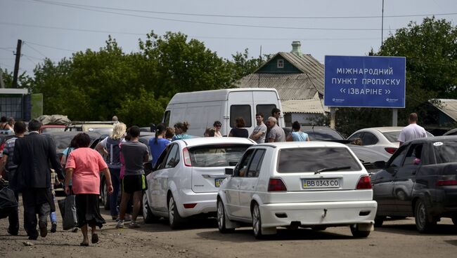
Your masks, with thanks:
[(276, 88), (286, 126), (293, 121), (313, 125), (330, 112), (323, 105), (324, 66), (311, 55), (303, 54), (300, 47), (300, 41), (293, 41), (290, 53), (273, 55), (254, 73), (240, 79), (237, 85), (240, 88)]

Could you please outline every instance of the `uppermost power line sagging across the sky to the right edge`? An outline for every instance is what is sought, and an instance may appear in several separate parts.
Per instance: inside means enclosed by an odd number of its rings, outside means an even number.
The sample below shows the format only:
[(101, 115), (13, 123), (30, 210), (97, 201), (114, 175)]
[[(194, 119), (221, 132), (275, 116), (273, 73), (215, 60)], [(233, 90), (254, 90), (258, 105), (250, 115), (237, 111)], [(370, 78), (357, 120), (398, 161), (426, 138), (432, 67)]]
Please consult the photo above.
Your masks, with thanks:
[[(88, 6), (83, 4), (70, 4), (60, 3), (56, 1), (44, 1), (44, 0), (31, 0), (42, 4), (51, 4), (56, 6), (67, 6), (67, 7), (84, 7), (84, 8), (98, 8), (112, 11), (129, 11), (137, 13), (157, 13), (167, 15), (186, 15), (186, 16), (197, 16), (197, 17), (220, 17), (220, 18), (255, 18), (255, 19), (368, 19), (368, 18), (381, 18), (380, 15), (371, 16), (256, 16), (256, 15), (218, 15), (218, 14), (207, 14), (207, 13), (175, 13), (165, 11), (146, 11), (138, 9), (128, 8), (112, 8), (105, 6)], [(457, 15), (457, 13), (423, 13), (423, 14), (410, 14), (410, 15), (385, 15), (385, 18), (407, 18), (407, 17), (423, 17), (423, 16), (444, 16), (444, 15)]]

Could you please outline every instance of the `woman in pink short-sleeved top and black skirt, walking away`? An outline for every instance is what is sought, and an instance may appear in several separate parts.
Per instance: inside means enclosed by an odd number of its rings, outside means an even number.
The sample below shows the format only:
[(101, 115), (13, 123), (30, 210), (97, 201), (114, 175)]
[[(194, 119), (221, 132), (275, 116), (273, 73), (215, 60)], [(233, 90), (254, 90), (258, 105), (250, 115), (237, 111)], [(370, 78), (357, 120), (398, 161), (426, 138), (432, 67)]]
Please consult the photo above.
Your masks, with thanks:
[(65, 193), (70, 194), (70, 179), (72, 179), (72, 191), (76, 195), (77, 226), (82, 231), (83, 240), (79, 245), (89, 246), (87, 225), (92, 229), (91, 242), (98, 242), (96, 226), (101, 228), (105, 219), (101, 217), (98, 207), (100, 195), (100, 172), (103, 172), (108, 186), (108, 194), (112, 194), (110, 170), (102, 156), (94, 149), (89, 148), (91, 139), (86, 133), (75, 136), (77, 149), (72, 151), (67, 158), (65, 166)]

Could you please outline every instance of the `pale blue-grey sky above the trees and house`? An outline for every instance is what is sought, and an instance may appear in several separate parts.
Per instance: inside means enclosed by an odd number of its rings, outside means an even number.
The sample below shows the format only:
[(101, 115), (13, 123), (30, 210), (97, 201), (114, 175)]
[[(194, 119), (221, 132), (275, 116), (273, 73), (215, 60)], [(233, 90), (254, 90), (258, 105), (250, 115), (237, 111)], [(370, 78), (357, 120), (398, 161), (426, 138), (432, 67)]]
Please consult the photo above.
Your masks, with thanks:
[[(435, 15), (456, 26), (456, 0), (0, 0), (0, 68), (12, 71), (18, 39), (24, 41), (20, 72), (32, 75), (47, 57), (58, 62), (87, 48), (105, 46), (108, 35), (125, 53), (139, 39), (181, 32), (219, 57), (249, 50), (250, 57), (302, 52), (323, 63), (326, 55), (367, 55), (382, 37), (410, 21)], [(382, 33), (381, 33), (382, 32)]]

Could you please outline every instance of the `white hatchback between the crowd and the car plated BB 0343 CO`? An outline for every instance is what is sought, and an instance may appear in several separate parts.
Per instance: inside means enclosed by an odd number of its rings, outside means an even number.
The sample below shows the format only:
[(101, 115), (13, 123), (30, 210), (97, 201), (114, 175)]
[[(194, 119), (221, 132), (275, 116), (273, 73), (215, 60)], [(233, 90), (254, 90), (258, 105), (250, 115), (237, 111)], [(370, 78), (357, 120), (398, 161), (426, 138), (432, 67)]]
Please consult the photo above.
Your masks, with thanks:
[(225, 169), (233, 168), (254, 141), (238, 137), (204, 137), (172, 142), (146, 176), (143, 194), (146, 223), (169, 218), (175, 229), (183, 218), (216, 215), (216, 196)]

